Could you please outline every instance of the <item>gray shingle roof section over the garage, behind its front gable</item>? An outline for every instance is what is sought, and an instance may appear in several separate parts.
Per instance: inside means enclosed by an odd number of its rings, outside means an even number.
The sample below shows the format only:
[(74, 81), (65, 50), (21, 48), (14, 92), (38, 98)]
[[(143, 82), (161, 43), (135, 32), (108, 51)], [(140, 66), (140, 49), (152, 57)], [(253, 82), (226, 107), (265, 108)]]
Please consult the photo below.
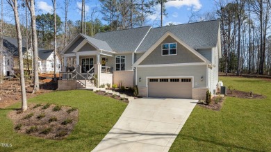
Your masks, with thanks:
[(151, 31), (149, 31), (145, 40), (140, 44), (137, 52), (147, 51), (167, 31), (179, 37), (180, 40), (193, 49), (216, 47), (219, 22), (220, 20), (217, 19), (207, 22), (151, 28)]

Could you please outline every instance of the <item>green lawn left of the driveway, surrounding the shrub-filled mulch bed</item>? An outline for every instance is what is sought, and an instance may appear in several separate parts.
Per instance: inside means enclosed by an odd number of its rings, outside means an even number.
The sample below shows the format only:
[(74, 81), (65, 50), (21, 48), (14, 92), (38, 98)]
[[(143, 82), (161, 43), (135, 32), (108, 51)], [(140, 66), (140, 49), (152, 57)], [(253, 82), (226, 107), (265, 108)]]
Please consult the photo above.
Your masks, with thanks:
[[(79, 122), (65, 140), (43, 140), (28, 135), (18, 135), (7, 118), (12, 108), (0, 109), (0, 151), (91, 151), (113, 127), (127, 103), (99, 96), (90, 91), (73, 90), (42, 94), (28, 103), (56, 103), (79, 108)], [(12, 144), (3, 148), (1, 143)]]

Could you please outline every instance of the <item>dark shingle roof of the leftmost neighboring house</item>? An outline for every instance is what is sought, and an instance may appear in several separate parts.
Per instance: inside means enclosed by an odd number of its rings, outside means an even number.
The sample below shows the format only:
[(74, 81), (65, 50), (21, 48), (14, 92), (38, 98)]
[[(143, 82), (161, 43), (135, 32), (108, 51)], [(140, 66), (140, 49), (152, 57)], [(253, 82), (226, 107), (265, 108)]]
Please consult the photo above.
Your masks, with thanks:
[[(3, 47), (6, 47), (13, 56), (19, 56), (17, 38), (3, 37)], [(22, 40), (23, 54), (26, 52), (26, 41)]]

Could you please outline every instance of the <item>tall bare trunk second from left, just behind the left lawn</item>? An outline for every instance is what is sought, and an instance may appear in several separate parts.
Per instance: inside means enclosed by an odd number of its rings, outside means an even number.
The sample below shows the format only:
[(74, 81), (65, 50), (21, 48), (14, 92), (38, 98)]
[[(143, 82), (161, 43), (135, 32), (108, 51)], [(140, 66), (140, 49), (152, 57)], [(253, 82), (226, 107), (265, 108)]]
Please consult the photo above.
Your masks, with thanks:
[(35, 1), (26, 0), (26, 5), (31, 14), (31, 30), (33, 43), (33, 73), (34, 73), (34, 88), (33, 93), (40, 91), (39, 75), (38, 75), (38, 37), (35, 24)]

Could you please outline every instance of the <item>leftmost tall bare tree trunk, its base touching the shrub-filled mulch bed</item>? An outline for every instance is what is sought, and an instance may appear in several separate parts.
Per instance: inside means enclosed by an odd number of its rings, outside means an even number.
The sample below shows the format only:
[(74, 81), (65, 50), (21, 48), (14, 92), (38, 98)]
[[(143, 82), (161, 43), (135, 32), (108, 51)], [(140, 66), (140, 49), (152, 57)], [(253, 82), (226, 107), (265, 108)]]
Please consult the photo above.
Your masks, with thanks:
[(16, 32), (17, 32), (17, 42), (18, 42), (18, 53), (19, 53), (19, 74), (20, 74), (20, 83), (21, 83), (21, 93), (22, 93), (22, 110), (27, 110), (27, 101), (26, 101), (26, 85), (24, 82), (24, 58), (22, 53), (22, 33), (19, 24), (19, 12), (17, 0), (7, 0), (10, 6), (13, 8)]

